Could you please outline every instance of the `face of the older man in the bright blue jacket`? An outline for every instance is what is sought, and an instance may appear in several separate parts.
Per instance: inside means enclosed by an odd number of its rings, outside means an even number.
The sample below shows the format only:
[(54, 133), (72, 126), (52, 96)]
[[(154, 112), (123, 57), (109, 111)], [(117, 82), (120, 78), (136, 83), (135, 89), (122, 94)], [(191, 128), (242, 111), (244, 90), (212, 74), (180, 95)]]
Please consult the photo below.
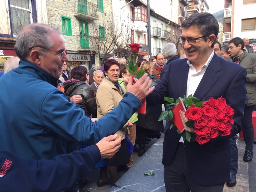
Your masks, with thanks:
[(59, 53), (55, 53), (49, 50), (47, 51), (46, 55), (41, 55), (41, 63), (39, 67), (45, 70), (51, 76), (57, 78), (62, 74), (63, 63), (68, 61), (68, 56), (64, 52), (62, 57), (60, 57), (61, 52), (63, 52), (65, 49), (65, 44), (60, 34), (53, 32), (50, 35), (50, 38), (53, 41), (53, 46), (50, 47), (50, 50)]

